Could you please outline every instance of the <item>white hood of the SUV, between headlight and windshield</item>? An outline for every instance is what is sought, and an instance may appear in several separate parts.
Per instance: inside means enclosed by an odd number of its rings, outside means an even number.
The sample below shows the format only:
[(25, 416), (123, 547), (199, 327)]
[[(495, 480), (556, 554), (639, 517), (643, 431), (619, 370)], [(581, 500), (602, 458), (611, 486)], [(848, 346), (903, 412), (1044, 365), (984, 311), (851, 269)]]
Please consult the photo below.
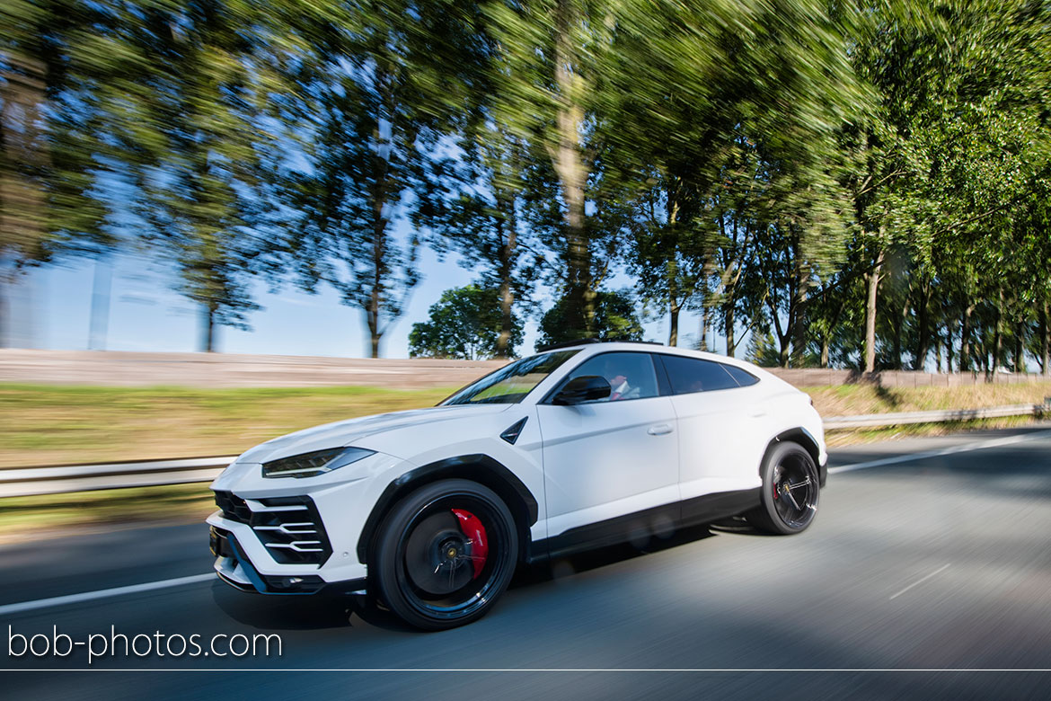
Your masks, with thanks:
[[(238, 462), (268, 462), (290, 455), (315, 450), (351, 446), (366, 437), (391, 431), (411, 433), (413, 429), (433, 426), (440, 421), (476, 420), (481, 416), (507, 411), (512, 405), (456, 405), (395, 411), (389, 414), (349, 418), (333, 424), (315, 426), (260, 444), (243, 453)], [(408, 436), (407, 436), (408, 438)]]

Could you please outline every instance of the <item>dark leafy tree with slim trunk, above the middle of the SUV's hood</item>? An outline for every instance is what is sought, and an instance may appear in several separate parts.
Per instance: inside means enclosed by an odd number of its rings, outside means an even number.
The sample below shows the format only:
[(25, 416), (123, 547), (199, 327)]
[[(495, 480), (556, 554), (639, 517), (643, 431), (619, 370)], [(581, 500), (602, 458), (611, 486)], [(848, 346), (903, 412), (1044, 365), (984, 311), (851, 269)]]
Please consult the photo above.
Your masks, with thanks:
[(301, 284), (327, 283), (365, 312), (369, 353), (418, 282), (418, 236), (398, 244), (392, 228), (411, 193), (428, 187), (425, 164), (442, 133), (472, 110), (461, 102), (485, 71), (477, 5), (460, 0), (354, 4), (342, 25), (298, 64), (301, 89), (288, 114), (303, 163), (283, 173), (296, 213), (280, 250)]

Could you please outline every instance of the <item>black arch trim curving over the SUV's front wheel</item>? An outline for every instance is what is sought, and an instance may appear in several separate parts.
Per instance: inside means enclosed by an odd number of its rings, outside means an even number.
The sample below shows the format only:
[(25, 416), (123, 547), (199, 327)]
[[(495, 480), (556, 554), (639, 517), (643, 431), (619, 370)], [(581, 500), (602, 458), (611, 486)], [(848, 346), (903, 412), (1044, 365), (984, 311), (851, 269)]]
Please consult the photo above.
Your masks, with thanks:
[(536, 498), (503, 465), (489, 455), (472, 454), (448, 457), (415, 468), (389, 483), (372, 507), (357, 539), (358, 561), (368, 561), (369, 549), (379, 523), (401, 497), (431, 482), (451, 478), (470, 479), (496, 492), (515, 518), (519, 532), (519, 558), (523, 557), (529, 549), (530, 528), (536, 523), (539, 514)]

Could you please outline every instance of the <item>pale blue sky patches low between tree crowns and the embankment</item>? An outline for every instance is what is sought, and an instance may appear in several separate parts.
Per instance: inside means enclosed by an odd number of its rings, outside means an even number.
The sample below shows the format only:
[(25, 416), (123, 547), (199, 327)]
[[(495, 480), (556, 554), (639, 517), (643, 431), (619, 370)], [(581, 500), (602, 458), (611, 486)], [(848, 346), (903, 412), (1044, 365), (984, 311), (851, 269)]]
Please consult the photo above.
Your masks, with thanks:
[[(91, 261), (67, 261), (25, 275), (13, 295), (14, 345), (87, 349), (94, 265)], [(438, 261), (430, 250), (421, 251), (419, 267), (424, 280), (413, 291), (407, 313), (384, 336), (380, 347), (384, 357), (408, 357), (412, 324), (427, 318), (428, 307), (444, 290), (474, 280), (474, 273), (457, 265), (454, 256)], [(124, 254), (115, 260), (111, 280), (107, 350), (198, 350), (199, 311), (173, 291), (174, 274), (170, 268), (146, 255)], [(631, 279), (619, 275), (611, 281), (610, 287), (631, 284)], [(368, 354), (364, 314), (339, 304), (330, 288), (307, 294), (285, 284), (271, 293), (261, 281), (253, 292), (255, 302), (264, 309), (249, 315), (252, 331), (221, 328), (220, 352), (343, 357)], [(551, 306), (550, 297), (543, 306)], [(644, 326), (646, 338), (667, 341), (667, 322), (663, 316), (646, 321)], [(683, 315), (680, 345), (696, 343), (698, 326), (696, 315)], [(531, 352), (536, 343), (536, 321), (530, 319), (526, 330), (520, 354)]]

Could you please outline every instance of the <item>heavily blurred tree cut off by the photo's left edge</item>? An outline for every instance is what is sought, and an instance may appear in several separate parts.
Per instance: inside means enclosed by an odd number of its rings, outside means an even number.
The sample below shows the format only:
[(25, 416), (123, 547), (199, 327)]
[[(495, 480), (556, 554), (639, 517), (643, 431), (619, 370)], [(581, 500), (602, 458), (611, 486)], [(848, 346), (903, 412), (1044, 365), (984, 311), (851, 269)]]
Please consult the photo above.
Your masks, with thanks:
[[(122, 27), (106, 2), (0, 6), (0, 346), (6, 287), (19, 271), (115, 244), (109, 190), (116, 158), (135, 152), (127, 137), (141, 124), (143, 75)], [(107, 109), (107, 86), (125, 79), (122, 108)]]

